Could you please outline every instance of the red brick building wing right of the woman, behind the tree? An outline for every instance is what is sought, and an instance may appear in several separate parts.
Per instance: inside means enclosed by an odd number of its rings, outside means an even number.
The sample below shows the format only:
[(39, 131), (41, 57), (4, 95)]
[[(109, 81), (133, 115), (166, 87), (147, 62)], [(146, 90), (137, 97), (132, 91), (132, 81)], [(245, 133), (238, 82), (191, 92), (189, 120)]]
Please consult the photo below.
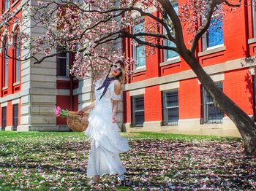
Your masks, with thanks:
[[(178, 4), (183, 1), (173, 2), (177, 12)], [(156, 9), (152, 13), (159, 15)], [(252, 117), (255, 116), (255, 15), (255, 9), (244, 4), (235, 12), (227, 12), (203, 35), (196, 50), (198, 61), (218, 87)], [(147, 19), (132, 32), (145, 27)], [(216, 30), (218, 26), (222, 29)], [(165, 31), (160, 29), (160, 32)], [(191, 36), (184, 32), (184, 38), (189, 42)], [(124, 127), (128, 131), (239, 136), (233, 122), (214, 106), (176, 52), (158, 50), (155, 55), (145, 57), (141, 53), (143, 48), (130, 45), (130, 41), (124, 40), (126, 54), (137, 58), (138, 67), (133, 69), (124, 93)]]

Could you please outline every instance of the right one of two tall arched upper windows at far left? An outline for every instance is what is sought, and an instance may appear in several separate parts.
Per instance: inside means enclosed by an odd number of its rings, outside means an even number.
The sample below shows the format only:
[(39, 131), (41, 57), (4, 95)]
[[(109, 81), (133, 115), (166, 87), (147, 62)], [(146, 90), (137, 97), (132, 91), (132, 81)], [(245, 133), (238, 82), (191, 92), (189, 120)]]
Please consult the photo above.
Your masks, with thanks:
[[(15, 35), (15, 58), (20, 59), (20, 36), (17, 34)], [(16, 60), (15, 63), (15, 82), (20, 81), (20, 61)]]

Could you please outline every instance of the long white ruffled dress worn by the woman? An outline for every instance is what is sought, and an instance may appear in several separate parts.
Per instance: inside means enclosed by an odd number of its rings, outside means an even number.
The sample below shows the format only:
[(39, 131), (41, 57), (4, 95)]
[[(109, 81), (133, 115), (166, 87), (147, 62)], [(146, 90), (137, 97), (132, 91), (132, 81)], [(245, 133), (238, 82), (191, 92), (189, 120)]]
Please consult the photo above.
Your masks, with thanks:
[(128, 138), (123, 138), (118, 125), (112, 122), (113, 100), (121, 100), (121, 95), (116, 95), (112, 81), (105, 95), (99, 100), (105, 87), (100, 90), (97, 88), (103, 81), (104, 79), (99, 79), (95, 84), (96, 103), (89, 115), (89, 125), (85, 131), (91, 140), (87, 176), (121, 176), (126, 169), (118, 154), (129, 150)]

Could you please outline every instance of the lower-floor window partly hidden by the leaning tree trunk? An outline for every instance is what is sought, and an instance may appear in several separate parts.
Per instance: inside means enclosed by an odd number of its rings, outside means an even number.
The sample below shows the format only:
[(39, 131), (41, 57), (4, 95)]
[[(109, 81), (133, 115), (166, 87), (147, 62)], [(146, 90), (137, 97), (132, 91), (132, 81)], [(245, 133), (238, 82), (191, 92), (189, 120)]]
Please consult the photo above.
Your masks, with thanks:
[[(220, 90), (222, 90), (222, 82), (217, 82), (217, 87), (219, 87)], [(209, 95), (206, 91), (206, 89), (202, 86), (202, 117), (200, 120), (201, 124), (204, 123), (222, 123), (222, 119), (224, 117), (224, 113), (218, 109), (216, 106), (214, 106), (214, 101), (211, 98), (211, 95)]]

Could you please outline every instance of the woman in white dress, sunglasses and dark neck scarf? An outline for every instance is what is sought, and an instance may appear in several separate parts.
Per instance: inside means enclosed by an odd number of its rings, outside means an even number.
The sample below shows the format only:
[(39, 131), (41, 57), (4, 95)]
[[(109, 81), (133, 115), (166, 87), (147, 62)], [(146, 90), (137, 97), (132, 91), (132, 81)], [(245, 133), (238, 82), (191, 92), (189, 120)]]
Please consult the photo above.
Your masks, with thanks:
[(110, 66), (108, 74), (95, 83), (96, 100), (79, 111), (94, 108), (85, 133), (91, 140), (87, 176), (93, 176), (95, 183), (99, 183), (102, 174), (118, 174), (122, 179), (126, 172), (118, 154), (129, 150), (128, 139), (121, 137), (116, 124), (124, 77), (124, 63), (117, 61)]

